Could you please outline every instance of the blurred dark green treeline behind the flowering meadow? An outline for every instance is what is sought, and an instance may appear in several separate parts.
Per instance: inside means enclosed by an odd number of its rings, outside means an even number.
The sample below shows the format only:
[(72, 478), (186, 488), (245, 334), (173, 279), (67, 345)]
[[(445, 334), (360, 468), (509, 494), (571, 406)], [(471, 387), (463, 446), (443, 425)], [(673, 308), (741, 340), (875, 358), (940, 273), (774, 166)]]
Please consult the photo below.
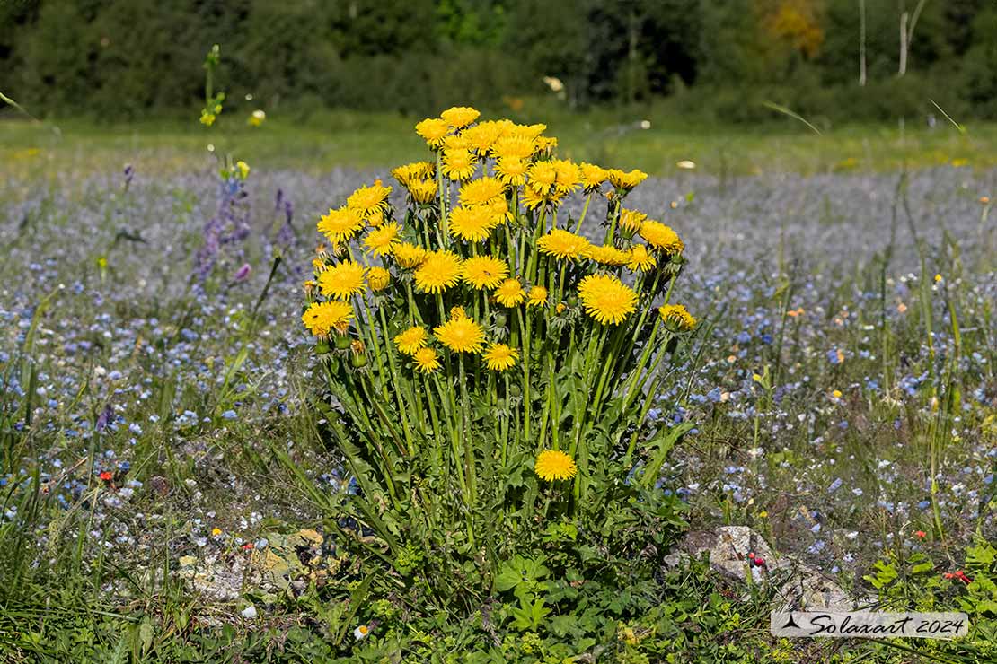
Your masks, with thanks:
[(231, 102), (282, 114), (547, 94), (997, 117), (997, 0), (2, 0), (0, 89), (42, 114), (189, 111), (214, 43)]

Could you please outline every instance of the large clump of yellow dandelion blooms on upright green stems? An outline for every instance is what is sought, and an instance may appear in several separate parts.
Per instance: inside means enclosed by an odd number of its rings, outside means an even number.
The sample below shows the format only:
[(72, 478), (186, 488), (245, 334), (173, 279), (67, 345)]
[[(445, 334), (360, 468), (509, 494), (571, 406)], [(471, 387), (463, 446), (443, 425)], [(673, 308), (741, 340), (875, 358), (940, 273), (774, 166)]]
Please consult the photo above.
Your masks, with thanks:
[[(646, 173), (559, 158), (545, 129), (466, 107), (419, 122), (431, 157), (321, 216), (327, 244), (305, 284), (302, 321), (340, 371), (333, 391), (387, 398), (385, 435), (400, 444), (452, 449), (433, 461), (469, 503), (479, 474), (522, 455), (541, 481), (584, 494), (592, 454), (629, 455), (636, 442), (588, 449), (610, 401), (629, 406), (639, 431), (664, 348), (696, 327), (669, 303), (682, 240), (624, 207)], [(583, 201), (578, 218), (563, 205), (571, 197)], [(601, 231), (582, 230), (590, 208), (604, 210)], [(573, 417), (562, 415), (565, 371), (587, 399)], [(482, 428), (491, 443), (475, 442)]]

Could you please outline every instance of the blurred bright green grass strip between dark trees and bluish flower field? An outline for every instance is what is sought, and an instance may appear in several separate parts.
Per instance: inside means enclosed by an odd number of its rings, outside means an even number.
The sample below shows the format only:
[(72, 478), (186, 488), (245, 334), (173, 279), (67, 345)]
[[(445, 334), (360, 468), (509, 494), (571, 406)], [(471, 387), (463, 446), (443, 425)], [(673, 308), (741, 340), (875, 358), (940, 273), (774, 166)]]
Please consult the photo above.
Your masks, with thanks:
[[(640, 168), (655, 175), (678, 175), (680, 160), (696, 172), (718, 177), (796, 172), (803, 174), (888, 171), (942, 164), (986, 168), (997, 164), (997, 124), (964, 127), (941, 120), (933, 129), (923, 122), (842, 125), (821, 134), (792, 117), (773, 111), (762, 128), (704, 124), (677, 117), (666, 107), (583, 113), (540, 107), (508, 114), (518, 121), (544, 118), (560, 141), (560, 153), (604, 166)], [(326, 111), (307, 118), (271, 112), (259, 128), (245, 125), (245, 112), (223, 113), (211, 131), (189, 118), (108, 125), (88, 120), (35, 123), (0, 121), (0, 144), (7, 165), (18, 168), (44, 160), (59, 167), (86, 162), (117, 167), (129, 159), (143, 170), (185, 170), (202, 164), (213, 142), (218, 150), (237, 145), (239, 156), (267, 168), (310, 172), (335, 166), (376, 168), (424, 158), (422, 140), (412, 127), (418, 117), (391, 113)], [(641, 122), (650, 122), (641, 128)]]

